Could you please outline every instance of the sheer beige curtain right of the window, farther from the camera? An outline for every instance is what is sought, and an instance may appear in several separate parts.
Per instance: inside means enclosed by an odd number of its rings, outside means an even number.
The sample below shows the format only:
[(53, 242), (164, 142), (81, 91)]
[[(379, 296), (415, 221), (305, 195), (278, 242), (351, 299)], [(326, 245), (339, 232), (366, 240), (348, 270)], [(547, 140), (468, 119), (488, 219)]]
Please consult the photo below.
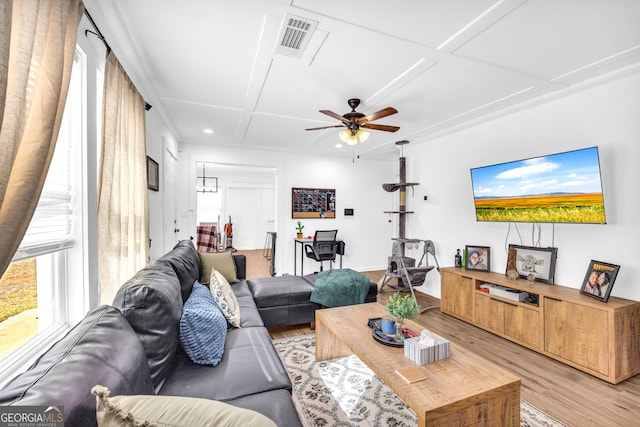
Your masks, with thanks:
[(100, 301), (147, 263), (149, 208), (145, 101), (113, 52), (107, 54), (98, 188)]

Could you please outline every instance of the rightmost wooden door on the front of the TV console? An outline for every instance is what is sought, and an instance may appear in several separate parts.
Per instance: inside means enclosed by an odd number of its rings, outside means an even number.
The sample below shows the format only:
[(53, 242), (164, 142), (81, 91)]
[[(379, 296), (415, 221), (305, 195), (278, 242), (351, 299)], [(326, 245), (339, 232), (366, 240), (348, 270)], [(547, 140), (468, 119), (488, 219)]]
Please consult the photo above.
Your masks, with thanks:
[(605, 310), (544, 298), (544, 349), (609, 375), (609, 324)]

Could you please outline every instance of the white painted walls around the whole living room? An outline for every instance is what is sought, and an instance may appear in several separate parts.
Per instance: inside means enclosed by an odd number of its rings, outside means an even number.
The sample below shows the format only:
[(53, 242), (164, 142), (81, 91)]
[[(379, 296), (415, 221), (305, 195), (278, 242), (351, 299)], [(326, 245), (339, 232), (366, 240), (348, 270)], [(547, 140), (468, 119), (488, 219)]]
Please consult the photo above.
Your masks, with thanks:
[[(513, 111), (500, 118), (420, 144), (405, 146), (407, 180), (419, 182), (415, 193), (407, 192), (407, 237), (431, 239), (441, 266), (453, 265), (457, 248), (465, 245), (491, 247), (491, 270), (506, 266), (508, 243), (532, 245), (531, 224), (518, 232), (505, 223), (475, 221), (469, 169), (590, 146), (598, 146), (603, 174), (606, 225), (542, 225), (541, 246), (558, 248), (556, 282), (580, 288), (590, 260), (618, 264), (620, 273), (612, 295), (640, 300), (640, 264), (635, 247), (640, 238), (637, 212), (640, 201), (635, 186), (640, 182), (640, 73), (638, 70), (591, 82), (582, 88), (557, 94), (545, 102)], [(158, 125), (149, 120), (148, 126)], [(148, 130), (150, 152), (162, 131)], [(396, 218), (384, 211), (397, 209), (397, 193), (385, 193), (384, 182), (397, 182), (398, 159), (388, 161), (293, 156), (243, 148), (207, 145), (181, 147), (178, 160), (176, 203), (181, 232), (179, 239), (195, 236), (195, 162), (258, 165), (276, 170), (278, 246), (277, 274), (293, 273), (295, 220), (291, 218), (291, 188), (336, 188), (337, 218), (305, 220), (305, 235), (316, 229), (337, 228), (346, 246), (344, 267), (364, 271), (385, 269), (391, 238), (397, 235)], [(423, 196), (428, 200), (424, 201)], [(160, 235), (150, 197), (151, 236)], [(160, 204), (161, 206), (161, 204)], [(251, 208), (248, 206), (247, 208)], [(355, 209), (345, 217), (344, 208)], [(160, 234), (158, 234), (160, 233)], [(522, 240), (520, 239), (522, 236)], [(155, 237), (154, 237), (155, 238)], [(415, 256), (408, 254), (409, 256)], [(417, 256), (419, 258), (419, 254)], [(305, 260), (305, 272), (317, 264)], [(427, 275), (418, 288), (440, 296), (440, 275)]]

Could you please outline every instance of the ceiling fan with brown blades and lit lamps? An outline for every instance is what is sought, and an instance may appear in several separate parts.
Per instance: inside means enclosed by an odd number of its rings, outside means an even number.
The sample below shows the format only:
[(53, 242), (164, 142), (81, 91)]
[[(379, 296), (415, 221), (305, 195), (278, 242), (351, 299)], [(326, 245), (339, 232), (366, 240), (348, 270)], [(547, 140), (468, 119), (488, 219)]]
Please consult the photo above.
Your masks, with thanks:
[(305, 130), (319, 130), (319, 129), (329, 129), (329, 128), (340, 128), (346, 127), (347, 129), (340, 132), (338, 137), (345, 143), (350, 145), (355, 145), (359, 142), (364, 142), (368, 137), (369, 133), (363, 131), (361, 128), (372, 129), (372, 130), (381, 130), (384, 132), (396, 132), (400, 129), (398, 126), (388, 126), (388, 125), (378, 125), (375, 123), (371, 123), (374, 120), (381, 119), (383, 117), (390, 116), (392, 114), (396, 114), (398, 110), (392, 107), (384, 108), (375, 113), (369, 114), (365, 116), (362, 113), (356, 111), (356, 108), (360, 105), (360, 99), (351, 98), (347, 101), (349, 107), (351, 107), (351, 112), (346, 113), (345, 115), (339, 115), (329, 110), (320, 110), (321, 113), (326, 114), (329, 117), (333, 117), (334, 119), (338, 119), (342, 122), (339, 125), (333, 126), (321, 126), (317, 128), (309, 128)]

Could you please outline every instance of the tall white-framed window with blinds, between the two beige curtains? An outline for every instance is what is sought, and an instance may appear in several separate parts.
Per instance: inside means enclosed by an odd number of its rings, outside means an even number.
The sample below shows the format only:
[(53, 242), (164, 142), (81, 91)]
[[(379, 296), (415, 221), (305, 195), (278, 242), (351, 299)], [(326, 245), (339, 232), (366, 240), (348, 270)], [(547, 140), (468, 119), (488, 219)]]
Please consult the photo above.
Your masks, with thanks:
[(0, 377), (30, 362), (86, 313), (82, 246), (86, 58), (74, 56), (69, 93), (38, 207), (0, 279)]

